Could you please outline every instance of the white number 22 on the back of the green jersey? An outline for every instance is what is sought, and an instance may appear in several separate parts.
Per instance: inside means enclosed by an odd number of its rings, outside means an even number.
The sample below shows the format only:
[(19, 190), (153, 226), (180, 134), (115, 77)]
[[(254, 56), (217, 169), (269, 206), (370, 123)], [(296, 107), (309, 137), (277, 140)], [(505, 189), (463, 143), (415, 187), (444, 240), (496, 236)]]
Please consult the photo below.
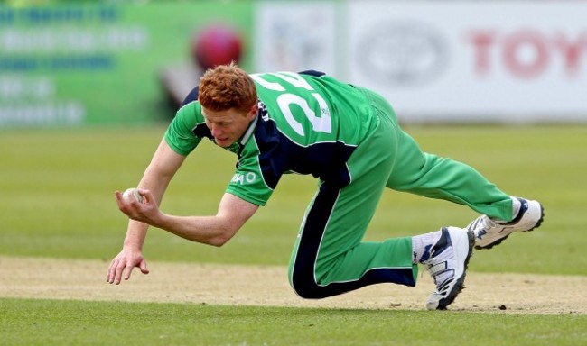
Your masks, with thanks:
[[(278, 73), (271, 73), (271, 76), (279, 77), (283, 79), (285, 82), (293, 85), (293, 87), (300, 87), (309, 91), (314, 91), (312, 86), (306, 82), (303, 77), (300, 75), (291, 73), (291, 72), (278, 72)], [(253, 79), (261, 86), (266, 87), (270, 90), (275, 91), (285, 91), (285, 88), (276, 82), (269, 82), (260, 77), (259, 75), (251, 75)], [(305, 133), (303, 132), (303, 126), (301, 123), (293, 118), (292, 109), (290, 108), (291, 105), (297, 105), (302, 109), (303, 114), (305, 114), (306, 118), (312, 123), (312, 129), (316, 132), (325, 132), (330, 133), (332, 130), (331, 125), (331, 111), (328, 109), (328, 105), (326, 105), (326, 101), (324, 98), (318, 93), (310, 93), (320, 105), (320, 116), (316, 116), (316, 113), (312, 110), (310, 105), (308, 105), (308, 101), (306, 101), (303, 97), (297, 96), (291, 93), (284, 93), (280, 96), (277, 96), (277, 105), (279, 105), (279, 109), (285, 116), (285, 120), (287, 123), (292, 126), (293, 131), (297, 132), (299, 135), (303, 136)]]

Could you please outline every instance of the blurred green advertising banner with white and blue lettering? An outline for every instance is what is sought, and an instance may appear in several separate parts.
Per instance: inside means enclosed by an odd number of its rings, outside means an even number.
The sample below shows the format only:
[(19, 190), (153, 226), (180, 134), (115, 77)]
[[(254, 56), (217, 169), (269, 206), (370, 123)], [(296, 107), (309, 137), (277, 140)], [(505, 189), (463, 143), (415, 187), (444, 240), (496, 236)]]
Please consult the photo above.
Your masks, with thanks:
[(200, 65), (250, 66), (252, 22), (249, 1), (0, 6), (0, 128), (163, 120)]

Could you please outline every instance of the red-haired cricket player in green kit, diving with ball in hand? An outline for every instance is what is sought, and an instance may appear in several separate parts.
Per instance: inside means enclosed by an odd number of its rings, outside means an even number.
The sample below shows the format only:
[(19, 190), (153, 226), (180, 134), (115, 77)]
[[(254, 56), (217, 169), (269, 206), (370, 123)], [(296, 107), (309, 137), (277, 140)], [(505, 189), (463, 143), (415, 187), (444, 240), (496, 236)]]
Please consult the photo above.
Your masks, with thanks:
[[(218, 213), (163, 213), (166, 187), (203, 139), (238, 158)], [(116, 191), (131, 220), (107, 282), (119, 284), (135, 267), (148, 273), (142, 247), (149, 225), (190, 241), (226, 243), (287, 173), (319, 181), (289, 266), (291, 286), (303, 298), (377, 283), (415, 286), (422, 264), (436, 285), (427, 308), (445, 309), (463, 287), (473, 247), (489, 249), (543, 219), (538, 202), (508, 196), (470, 166), (420, 150), (373, 91), (317, 71), (248, 75), (223, 65), (206, 71), (169, 125), (138, 185), (144, 202)], [(363, 241), (386, 187), (467, 205), (481, 216), (465, 228)]]

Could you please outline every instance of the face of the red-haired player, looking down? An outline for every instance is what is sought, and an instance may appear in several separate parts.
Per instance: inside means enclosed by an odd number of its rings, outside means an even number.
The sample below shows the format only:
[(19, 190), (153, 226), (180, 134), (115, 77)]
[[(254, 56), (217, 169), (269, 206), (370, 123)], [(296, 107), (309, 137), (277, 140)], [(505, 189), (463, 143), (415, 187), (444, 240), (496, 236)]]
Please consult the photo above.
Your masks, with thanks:
[(220, 147), (228, 148), (247, 131), (248, 124), (255, 119), (257, 105), (253, 105), (247, 113), (235, 109), (214, 112), (201, 107), (206, 126), (212, 132), (214, 141)]

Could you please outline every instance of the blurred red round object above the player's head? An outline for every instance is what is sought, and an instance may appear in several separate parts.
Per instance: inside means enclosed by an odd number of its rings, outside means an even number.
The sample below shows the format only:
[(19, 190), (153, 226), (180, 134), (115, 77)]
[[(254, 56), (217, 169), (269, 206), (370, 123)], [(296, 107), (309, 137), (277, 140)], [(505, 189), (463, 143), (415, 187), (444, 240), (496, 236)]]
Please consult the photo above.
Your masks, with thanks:
[(204, 28), (192, 46), (193, 58), (204, 70), (232, 61), (238, 62), (241, 52), (242, 40), (238, 32), (222, 25)]

